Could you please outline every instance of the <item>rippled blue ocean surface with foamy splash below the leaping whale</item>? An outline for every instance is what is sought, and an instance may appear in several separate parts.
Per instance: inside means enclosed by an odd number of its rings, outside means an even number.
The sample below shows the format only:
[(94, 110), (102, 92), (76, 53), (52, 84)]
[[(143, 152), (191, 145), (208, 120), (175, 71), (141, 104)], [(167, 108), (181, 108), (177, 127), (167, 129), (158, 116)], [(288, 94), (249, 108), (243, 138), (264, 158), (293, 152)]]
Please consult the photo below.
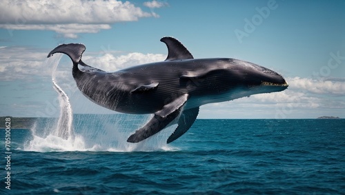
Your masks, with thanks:
[(75, 114), (68, 140), (39, 119), (10, 150), (0, 130), (0, 194), (345, 194), (344, 119), (198, 119), (173, 143), (175, 126), (126, 143), (136, 117)]

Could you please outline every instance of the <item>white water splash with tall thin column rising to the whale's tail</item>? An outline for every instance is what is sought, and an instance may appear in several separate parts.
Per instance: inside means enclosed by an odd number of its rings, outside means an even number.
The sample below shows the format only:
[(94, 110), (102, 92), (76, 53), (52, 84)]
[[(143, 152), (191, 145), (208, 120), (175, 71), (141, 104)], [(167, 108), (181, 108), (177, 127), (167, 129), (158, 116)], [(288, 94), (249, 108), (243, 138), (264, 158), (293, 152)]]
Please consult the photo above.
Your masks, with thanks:
[(148, 115), (139, 117), (140, 120), (138, 121), (134, 120), (135, 117), (129, 114), (110, 115), (111, 120), (109, 117), (94, 114), (79, 117), (79, 121), (73, 122), (72, 107), (68, 95), (60, 88), (55, 78), (55, 72), (61, 57), (62, 54), (55, 54), (45, 64), (53, 67), (52, 86), (59, 95), (59, 120), (50, 123), (45, 121), (41, 125), (35, 124), (32, 127), (32, 140), (24, 145), (24, 150), (35, 152), (150, 152), (178, 150), (176, 147), (166, 144), (166, 138), (175, 129), (175, 125), (140, 143), (127, 143), (126, 140), (132, 133), (128, 130), (133, 131), (146, 123), (151, 117)]

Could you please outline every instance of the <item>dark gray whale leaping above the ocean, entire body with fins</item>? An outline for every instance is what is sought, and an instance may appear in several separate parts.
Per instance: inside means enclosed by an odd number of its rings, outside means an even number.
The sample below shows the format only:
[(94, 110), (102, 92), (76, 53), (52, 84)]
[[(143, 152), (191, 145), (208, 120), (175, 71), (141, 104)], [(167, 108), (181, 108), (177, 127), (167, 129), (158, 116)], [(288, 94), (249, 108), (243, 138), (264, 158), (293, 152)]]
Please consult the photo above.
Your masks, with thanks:
[(280, 92), (285, 79), (262, 66), (238, 59), (194, 59), (177, 39), (163, 37), (168, 47), (165, 61), (104, 72), (81, 61), (85, 45), (62, 44), (52, 50), (67, 54), (72, 75), (88, 99), (110, 110), (128, 114), (154, 114), (128, 138), (137, 143), (177, 123), (167, 143), (175, 141), (193, 125), (199, 106), (230, 101), (252, 94)]

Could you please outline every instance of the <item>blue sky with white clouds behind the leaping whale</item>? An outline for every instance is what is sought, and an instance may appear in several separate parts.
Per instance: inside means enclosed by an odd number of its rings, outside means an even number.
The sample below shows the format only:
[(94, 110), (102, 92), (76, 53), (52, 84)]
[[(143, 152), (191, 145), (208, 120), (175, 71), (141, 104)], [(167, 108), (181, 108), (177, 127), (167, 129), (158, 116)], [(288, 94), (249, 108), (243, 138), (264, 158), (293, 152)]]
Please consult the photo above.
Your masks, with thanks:
[[(162, 61), (176, 37), (195, 58), (228, 57), (282, 74), (290, 87), (204, 105), (199, 119), (345, 118), (345, 1), (1, 1), (0, 116), (57, 116), (46, 55), (84, 43), (83, 61), (107, 71)], [(75, 113), (90, 103), (63, 57), (57, 81)]]

